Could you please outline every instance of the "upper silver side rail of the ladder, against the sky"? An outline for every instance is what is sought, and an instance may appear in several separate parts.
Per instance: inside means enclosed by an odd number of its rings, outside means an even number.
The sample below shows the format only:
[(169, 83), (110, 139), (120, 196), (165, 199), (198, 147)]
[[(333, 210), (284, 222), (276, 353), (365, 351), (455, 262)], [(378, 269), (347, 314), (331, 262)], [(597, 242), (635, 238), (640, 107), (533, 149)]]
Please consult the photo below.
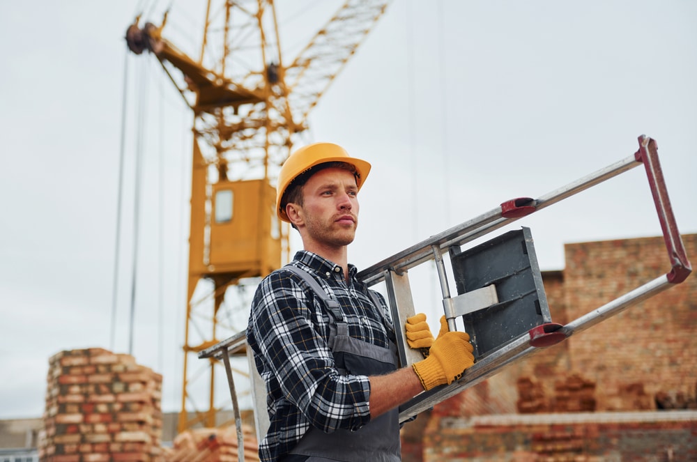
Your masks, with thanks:
[[(588, 176), (584, 176), (579, 180), (575, 180), (568, 185), (560, 187), (557, 190), (553, 190), (549, 194), (539, 197), (539, 199), (519, 198), (507, 201), (501, 206), (489, 210), (489, 212), (479, 217), (475, 217), (472, 220), (453, 226), (442, 233), (431, 236), (426, 240), (422, 240), (418, 244), (362, 270), (358, 273), (358, 277), (368, 285), (382, 282), (385, 270), (402, 272), (424, 263), (425, 261), (431, 260), (433, 258), (431, 247), (434, 245), (438, 245), (441, 249), (447, 249), (447, 247), (452, 247), (453, 245), (463, 245), (475, 238), (484, 236), (484, 234), (490, 231), (514, 222), (523, 216), (551, 206), (553, 203), (557, 203), (562, 199), (571, 197), (574, 194), (587, 190), (614, 176), (618, 176), (625, 171), (638, 167), (640, 164), (641, 161), (636, 160), (635, 155), (631, 155), (608, 167), (599, 169)], [(515, 207), (526, 208), (526, 211), (523, 214), (509, 213), (510, 208)]]

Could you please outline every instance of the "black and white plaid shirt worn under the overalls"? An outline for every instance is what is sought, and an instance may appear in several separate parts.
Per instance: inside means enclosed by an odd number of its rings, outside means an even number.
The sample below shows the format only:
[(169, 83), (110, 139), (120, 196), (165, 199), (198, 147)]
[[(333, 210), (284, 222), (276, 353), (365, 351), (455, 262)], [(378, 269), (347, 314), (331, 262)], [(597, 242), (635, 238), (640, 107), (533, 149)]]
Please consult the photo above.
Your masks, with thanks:
[[(378, 294), (383, 314), (376, 311), (354, 265), (348, 265), (347, 284), (339, 265), (311, 252), (298, 252), (291, 264), (314, 275), (339, 302), (351, 337), (388, 347), (394, 332), (388, 307)], [(259, 446), (262, 461), (287, 454), (311, 425), (325, 432), (358, 430), (370, 420), (369, 380), (339, 375), (324, 311), (312, 288), (288, 271), (273, 272), (256, 289), (247, 341), (266, 384), (271, 422)]]

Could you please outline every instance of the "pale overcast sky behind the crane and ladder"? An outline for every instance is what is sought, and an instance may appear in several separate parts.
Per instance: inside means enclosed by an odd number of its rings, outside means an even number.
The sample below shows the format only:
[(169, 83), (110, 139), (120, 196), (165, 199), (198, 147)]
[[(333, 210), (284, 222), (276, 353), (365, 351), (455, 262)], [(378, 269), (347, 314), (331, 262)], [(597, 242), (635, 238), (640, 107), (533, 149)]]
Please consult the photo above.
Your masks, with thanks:
[[(133, 353), (164, 374), (164, 410), (178, 410), (192, 114), (153, 56), (126, 52), (143, 3), (0, 2), (0, 418), (40, 417), (51, 355), (128, 352), (134, 281)], [(191, 5), (169, 3), (164, 35), (188, 49), (201, 31), (178, 8)], [(340, 4), (276, 3), (306, 32)], [(148, 3), (144, 19), (159, 23), (166, 6)], [(503, 201), (556, 190), (633, 154), (640, 134), (658, 141), (680, 231), (697, 232), (695, 24), (691, 0), (393, 1), (306, 137), (373, 164), (350, 261), (365, 268)], [(643, 167), (512, 229), (521, 225), (543, 270), (564, 268), (565, 243), (661, 233)], [(430, 303), (436, 290), (422, 292)]]

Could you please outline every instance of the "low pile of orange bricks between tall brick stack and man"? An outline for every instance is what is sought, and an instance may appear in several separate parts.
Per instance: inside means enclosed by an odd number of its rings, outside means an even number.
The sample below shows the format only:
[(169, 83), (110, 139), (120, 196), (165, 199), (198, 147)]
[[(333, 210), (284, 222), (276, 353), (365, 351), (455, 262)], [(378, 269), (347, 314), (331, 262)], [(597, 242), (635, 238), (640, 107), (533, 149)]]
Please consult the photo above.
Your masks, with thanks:
[[(251, 431), (243, 432), (245, 461), (259, 462), (259, 445)], [(238, 440), (234, 427), (193, 429), (179, 433), (164, 449), (167, 462), (237, 462)]]

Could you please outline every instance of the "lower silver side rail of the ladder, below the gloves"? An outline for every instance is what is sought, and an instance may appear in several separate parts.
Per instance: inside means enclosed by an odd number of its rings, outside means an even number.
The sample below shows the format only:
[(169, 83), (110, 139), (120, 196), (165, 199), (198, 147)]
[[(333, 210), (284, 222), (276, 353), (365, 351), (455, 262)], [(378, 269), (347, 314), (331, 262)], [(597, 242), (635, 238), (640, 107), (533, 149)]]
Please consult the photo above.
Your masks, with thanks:
[[(605, 321), (616, 314), (625, 311), (625, 309), (636, 305), (648, 298), (657, 295), (668, 288), (671, 288), (673, 284), (668, 280), (667, 275), (661, 275), (652, 281), (635, 288), (633, 291), (625, 293), (625, 295), (606, 303), (602, 307), (599, 307), (589, 313), (577, 318), (576, 320), (568, 323), (567, 325), (560, 328), (560, 332), (564, 334), (565, 338), (571, 337), (573, 334), (583, 332), (593, 325)], [(549, 348), (549, 347), (546, 347)], [(466, 390), (477, 383), (482, 382), (482, 380), (497, 374), (503, 367), (514, 361), (526, 358), (533, 353), (542, 351), (544, 348), (530, 346), (530, 337), (528, 334), (521, 335), (517, 339), (514, 339), (509, 344), (503, 346), (498, 351), (491, 353), (478, 362), (476, 362), (473, 367), (470, 367), (465, 371), (465, 374), (457, 380), (457, 382), (451, 385), (441, 385), (434, 389), (431, 393), (422, 393), (415, 396), (406, 405), (400, 408), (399, 420), (400, 422), (406, 421), (413, 415), (422, 413), (424, 410), (432, 408), (435, 404), (444, 401), (445, 399)]]

